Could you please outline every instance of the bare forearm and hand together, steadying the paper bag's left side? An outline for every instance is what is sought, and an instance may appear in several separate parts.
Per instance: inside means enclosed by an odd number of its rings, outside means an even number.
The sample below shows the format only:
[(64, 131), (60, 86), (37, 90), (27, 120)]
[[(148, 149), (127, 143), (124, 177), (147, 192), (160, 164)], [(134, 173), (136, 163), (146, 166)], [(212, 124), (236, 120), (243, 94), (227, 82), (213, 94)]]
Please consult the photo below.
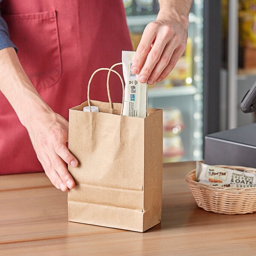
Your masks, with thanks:
[(78, 161), (66, 147), (68, 122), (53, 112), (35, 90), (13, 47), (0, 50), (0, 81), (0, 90), (28, 130), (46, 175), (57, 189), (72, 189), (75, 182), (65, 162), (76, 167)]

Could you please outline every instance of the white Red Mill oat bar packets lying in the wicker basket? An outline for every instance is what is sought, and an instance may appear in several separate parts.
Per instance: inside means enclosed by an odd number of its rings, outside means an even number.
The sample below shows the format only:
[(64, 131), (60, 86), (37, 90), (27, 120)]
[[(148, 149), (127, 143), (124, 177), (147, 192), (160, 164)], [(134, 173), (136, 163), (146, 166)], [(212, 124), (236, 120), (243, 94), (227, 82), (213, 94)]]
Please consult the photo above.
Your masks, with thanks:
[(201, 162), (196, 163), (195, 172), (198, 182), (210, 186), (232, 188), (256, 187), (256, 174), (254, 172), (209, 166)]

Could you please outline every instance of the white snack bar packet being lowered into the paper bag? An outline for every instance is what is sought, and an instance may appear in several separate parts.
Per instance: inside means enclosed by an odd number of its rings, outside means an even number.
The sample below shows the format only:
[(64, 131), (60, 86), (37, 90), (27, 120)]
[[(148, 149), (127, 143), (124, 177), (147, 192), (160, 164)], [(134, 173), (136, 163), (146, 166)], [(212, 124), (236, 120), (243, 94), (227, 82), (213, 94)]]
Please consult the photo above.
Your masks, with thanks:
[(145, 118), (148, 106), (148, 84), (140, 83), (137, 75), (131, 73), (135, 53), (122, 51), (122, 70), (125, 80), (125, 100), (122, 115)]

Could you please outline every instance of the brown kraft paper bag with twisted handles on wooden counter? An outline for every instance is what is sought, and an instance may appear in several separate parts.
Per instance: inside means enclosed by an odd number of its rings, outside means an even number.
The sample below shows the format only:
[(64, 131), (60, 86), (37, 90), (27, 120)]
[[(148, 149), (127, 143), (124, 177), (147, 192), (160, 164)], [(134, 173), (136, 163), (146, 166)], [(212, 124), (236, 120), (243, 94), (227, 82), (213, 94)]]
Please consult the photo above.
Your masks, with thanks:
[[(130, 65), (134, 53), (127, 57), (130, 59), (126, 63)], [(136, 112), (145, 113), (144, 118), (129, 116), (134, 111), (127, 110), (122, 115), (125, 97), (129, 102), (131, 97), (138, 100), (139, 82), (136, 76), (130, 79), (124, 75), (128, 95), (123, 93), (122, 104), (112, 103), (108, 86), (111, 72), (119, 76), (124, 92), (122, 77), (113, 70), (119, 64), (122, 63), (96, 70), (88, 84), (87, 101), (69, 112), (69, 149), (79, 160), (79, 166), (69, 166), (76, 186), (68, 191), (68, 219), (144, 232), (161, 221), (163, 113), (154, 108), (146, 111), (143, 106), (142, 111)], [(100, 70), (108, 71), (109, 102), (90, 100), (90, 82)], [(146, 104), (145, 95), (143, 99)], [(140, 108), (131, 103), (126, 105), (130, 105), (130, 110), (132, 105)], [(90, 111), (84, 112), (87, 106)], [(99, 112), (91, 112), (91, 106), (98, 107)]]

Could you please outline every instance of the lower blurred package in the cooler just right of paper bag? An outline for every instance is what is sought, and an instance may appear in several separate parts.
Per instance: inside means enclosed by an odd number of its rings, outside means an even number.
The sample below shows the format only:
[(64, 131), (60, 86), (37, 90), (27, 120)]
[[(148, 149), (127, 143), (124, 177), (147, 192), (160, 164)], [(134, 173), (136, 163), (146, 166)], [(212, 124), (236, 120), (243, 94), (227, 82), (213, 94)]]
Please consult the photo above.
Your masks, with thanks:
[(180, 136), (163, 137), (163, 163), (178, 162), (184, 155)]

